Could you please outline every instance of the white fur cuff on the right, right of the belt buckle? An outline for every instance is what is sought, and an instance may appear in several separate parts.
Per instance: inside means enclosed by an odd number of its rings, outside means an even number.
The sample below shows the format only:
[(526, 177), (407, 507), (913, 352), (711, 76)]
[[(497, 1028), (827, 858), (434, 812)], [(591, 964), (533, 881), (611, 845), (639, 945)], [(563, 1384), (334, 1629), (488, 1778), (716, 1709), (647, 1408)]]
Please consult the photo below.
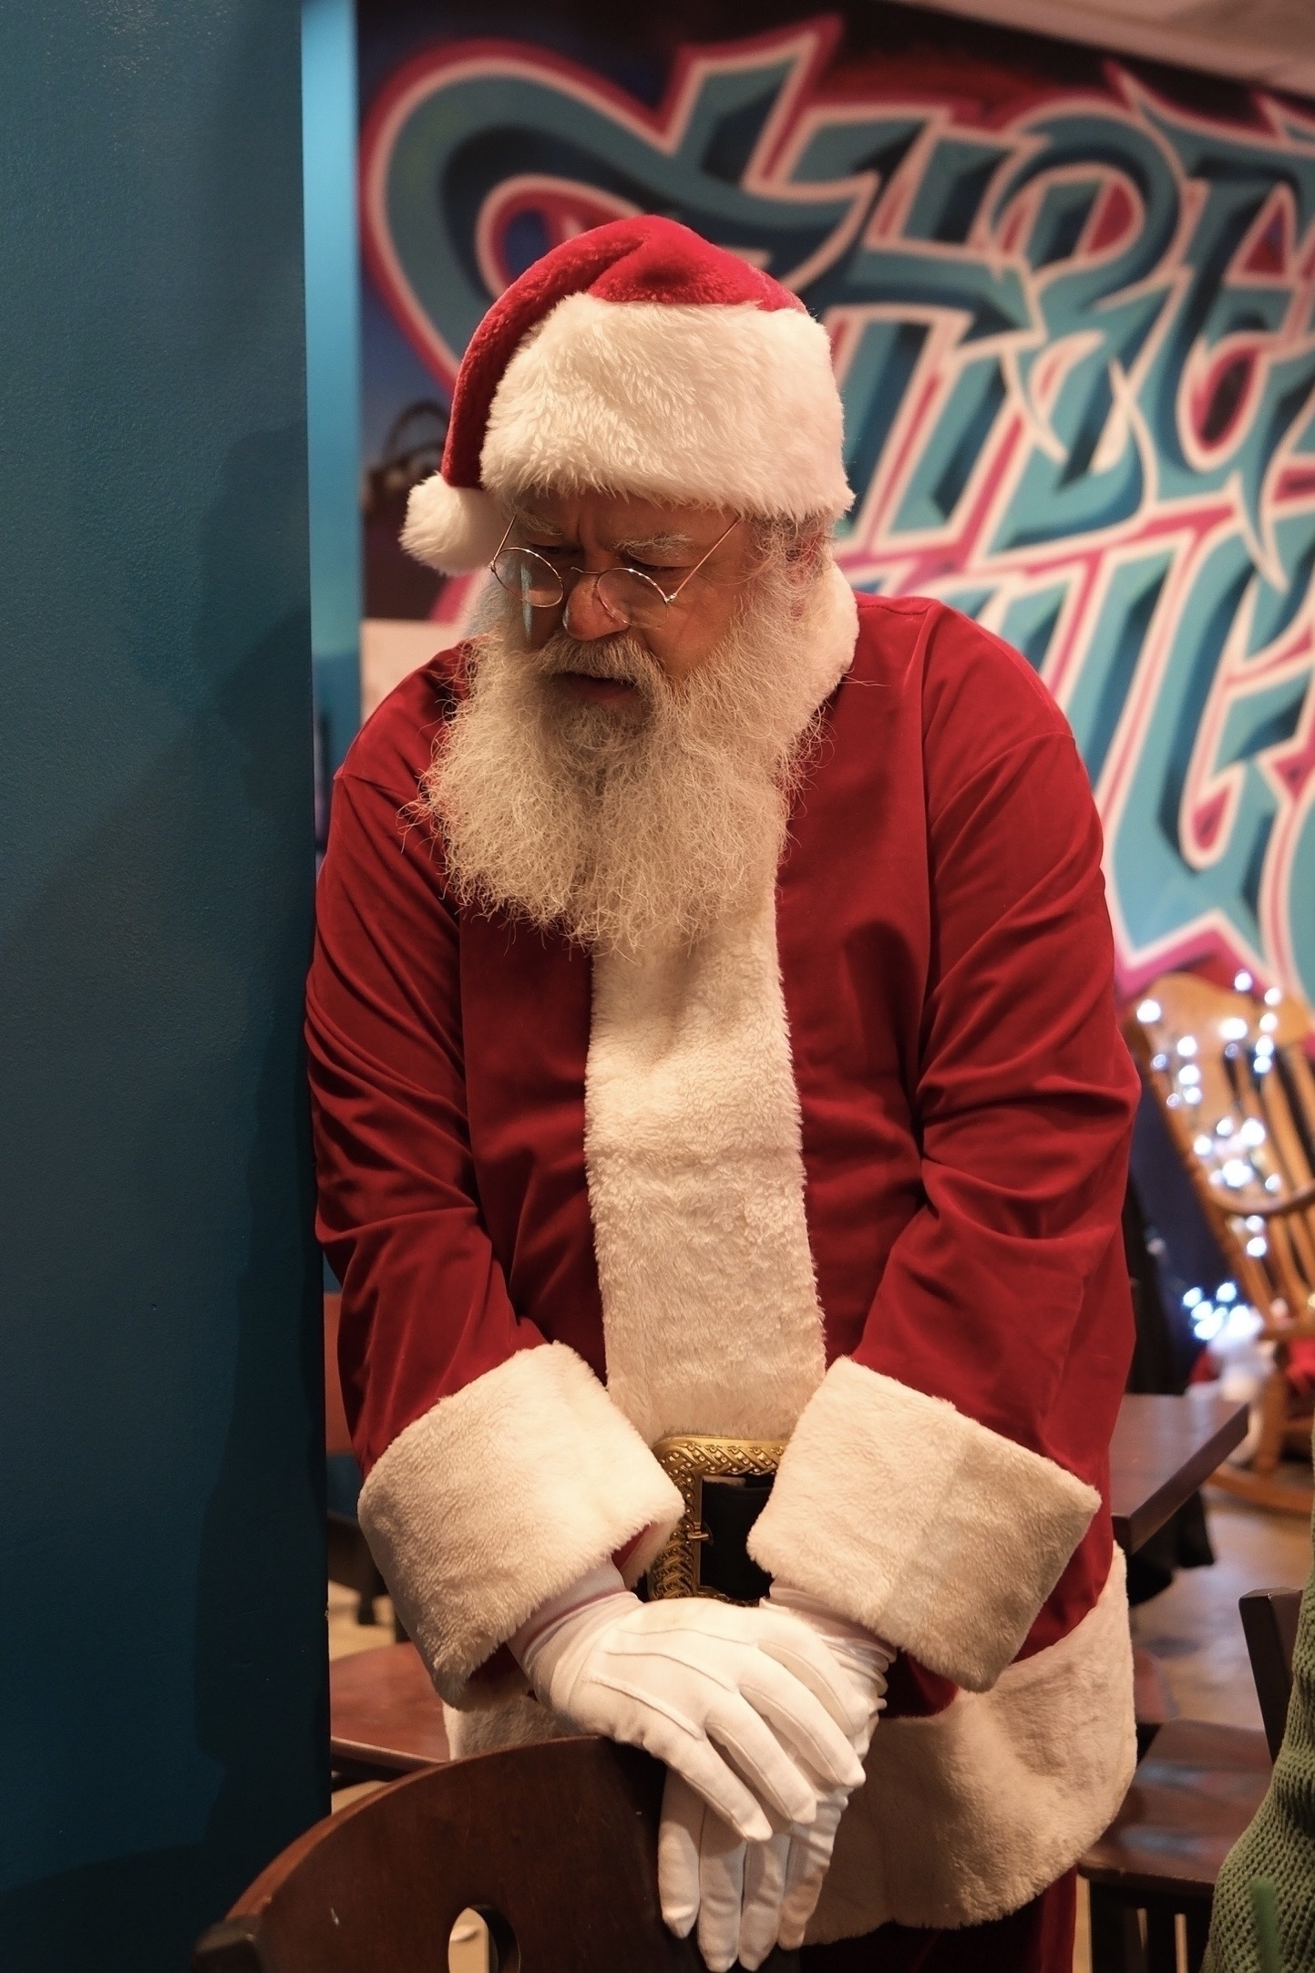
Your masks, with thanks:
[(984, 1693), (1098, 1505), (1053, 1460), (840, 1357), (795, 1426), (749, 1553)]

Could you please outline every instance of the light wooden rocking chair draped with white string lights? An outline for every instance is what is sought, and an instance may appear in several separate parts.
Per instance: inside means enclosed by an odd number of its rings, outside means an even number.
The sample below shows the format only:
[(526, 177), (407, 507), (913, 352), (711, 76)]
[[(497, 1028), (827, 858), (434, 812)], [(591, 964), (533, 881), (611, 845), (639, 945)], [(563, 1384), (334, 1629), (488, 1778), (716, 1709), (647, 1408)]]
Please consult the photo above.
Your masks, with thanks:
[[(1287, 1377), (1289, 1346), (1315, 1336), (1315, 1075), (1311, 1014), (1291, 994), (1264, 998), (1165, 973), (1126, 1024), (1173, 1144), (1242, 1294), (1274, 1344), (1250, 1470), (1214, 1484), (1309, 1517), (1311, 1488), (1274, 1478), (1283, 1450), (1311, 1442), (1311, 1405)], [(1303, 1413), (1303, 1415), (1301, 1415)]]

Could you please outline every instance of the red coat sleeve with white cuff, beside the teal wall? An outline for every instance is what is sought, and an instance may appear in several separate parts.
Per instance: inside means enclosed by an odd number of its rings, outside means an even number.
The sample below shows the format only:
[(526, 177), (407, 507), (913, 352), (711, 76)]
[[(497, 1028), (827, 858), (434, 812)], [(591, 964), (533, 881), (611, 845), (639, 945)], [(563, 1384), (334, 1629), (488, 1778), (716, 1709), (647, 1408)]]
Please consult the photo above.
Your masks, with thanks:
[(361, 1525), (440, 1693), (473, 1705), (524, 1689), (499, 1645), (607, 1557), (637, 1574), (680, 1498), (584, 1359), (511, 1306), (471, 1166), (459, 925), (402, 803), (392, 777), (335, 783), (308, 983), (317, 1231)]

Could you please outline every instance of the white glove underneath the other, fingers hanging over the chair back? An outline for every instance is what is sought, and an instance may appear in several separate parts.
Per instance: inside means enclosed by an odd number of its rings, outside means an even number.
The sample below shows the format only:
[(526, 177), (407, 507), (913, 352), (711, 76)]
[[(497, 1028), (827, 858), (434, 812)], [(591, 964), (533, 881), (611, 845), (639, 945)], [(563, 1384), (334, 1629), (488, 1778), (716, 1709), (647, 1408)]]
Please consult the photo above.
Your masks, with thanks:
[[(826, 1644), (844, 1697), (844, 1726), (862, 1760), (885, 1705), (885, 1673), (895, 1653), (802, 1590), (775, 1584), (767, 1606), (791, 1612)], [(812, 1823), (795, 1821), (765, 1843), (743, 1845), (678, 1774), (666, 1778), (658, 1835), (662, 1918), (678, 1937), (698, 1918), (698, 1949), (714, 1973), (726, 1973), (735, 1959), (759, 1967), (777, 1943), (787, 1951), (802, 1945), (852, 1786), (822, 1793)]]

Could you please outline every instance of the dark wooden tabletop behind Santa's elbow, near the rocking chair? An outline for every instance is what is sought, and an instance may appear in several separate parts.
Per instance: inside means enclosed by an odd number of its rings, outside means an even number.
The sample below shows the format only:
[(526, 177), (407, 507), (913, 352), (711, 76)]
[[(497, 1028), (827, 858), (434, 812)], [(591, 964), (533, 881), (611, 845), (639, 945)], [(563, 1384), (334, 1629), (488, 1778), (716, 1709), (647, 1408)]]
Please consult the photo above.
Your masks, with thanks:
[(1110, 1442), (1114, 1539), (1128, 1553), (1163, 1527), (1246, 1436), (1246, 1405), (1195, 1385), (1183, 1397), (1126, 1397)]

